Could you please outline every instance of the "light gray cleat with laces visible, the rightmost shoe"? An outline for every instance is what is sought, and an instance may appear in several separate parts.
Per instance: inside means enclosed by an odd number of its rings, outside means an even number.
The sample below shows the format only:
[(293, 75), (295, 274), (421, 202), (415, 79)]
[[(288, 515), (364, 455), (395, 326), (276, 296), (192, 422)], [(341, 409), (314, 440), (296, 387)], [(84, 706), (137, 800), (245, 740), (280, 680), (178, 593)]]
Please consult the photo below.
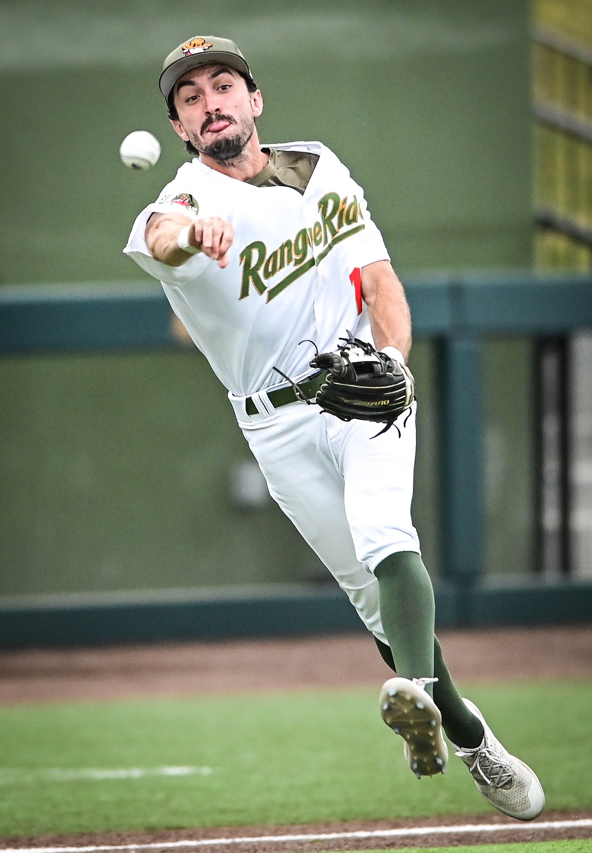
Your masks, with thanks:
[(543, 787), (537, 775), (502, 746), (477, 705), (469, 699), (462, 701), (475, 717), (479, 717), (485, 734), (476, 749), (455, 746), (455, 754), (467, 765), (479, 792), (491, 805), (519, 821), (532, 821), (541, 814), (545, 805)]

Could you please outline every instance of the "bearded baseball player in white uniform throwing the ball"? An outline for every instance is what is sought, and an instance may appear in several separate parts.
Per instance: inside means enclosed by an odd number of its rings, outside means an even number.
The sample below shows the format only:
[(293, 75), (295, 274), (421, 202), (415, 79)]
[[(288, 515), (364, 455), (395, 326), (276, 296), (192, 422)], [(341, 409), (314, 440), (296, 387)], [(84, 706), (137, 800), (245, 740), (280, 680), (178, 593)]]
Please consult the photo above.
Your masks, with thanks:
[(444, 732), (492, 805), (537, 817), (537, 776), (461, 699), (434, 635), (410, 514), (409, 307), (362, 187), (321, 142), (259, 143), (263, 97), (229, 39), (180, 44), (160, 91), (194, 158), (139, 214), (124, 251), (162, 282), (228, 389), (271, 496), (396, 672), (380, 712), (415, 775), (444, 772)]

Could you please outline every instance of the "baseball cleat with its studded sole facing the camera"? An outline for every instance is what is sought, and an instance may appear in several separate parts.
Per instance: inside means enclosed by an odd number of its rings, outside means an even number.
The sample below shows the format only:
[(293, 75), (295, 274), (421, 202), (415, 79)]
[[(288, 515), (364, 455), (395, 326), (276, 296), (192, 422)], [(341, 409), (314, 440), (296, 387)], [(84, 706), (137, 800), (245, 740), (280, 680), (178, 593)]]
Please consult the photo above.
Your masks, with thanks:
[(403, 751), (418, 779), (444, 773), (448, 747), (442, 736), (442, 715), (426, 685), (437, 678), (389, 678), (380, 691), (380, 714), (403, 738)]

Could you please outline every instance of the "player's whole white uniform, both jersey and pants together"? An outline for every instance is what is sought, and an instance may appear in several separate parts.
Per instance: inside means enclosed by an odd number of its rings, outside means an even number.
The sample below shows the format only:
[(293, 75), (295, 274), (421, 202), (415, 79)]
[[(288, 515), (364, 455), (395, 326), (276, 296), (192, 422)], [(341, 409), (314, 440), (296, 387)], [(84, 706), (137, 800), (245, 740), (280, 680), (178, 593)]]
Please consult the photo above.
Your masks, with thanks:
[[(274, 177), (280, 152), (303, 154), (293, 160), (295, 171), (301, 161), (308, 163), (294, 185), (283, 179), (289, 166), (281, 179), (279, 171)], [(223, 270), (203, 254), (180, 267), (151, 256), (144, 239), (148, 217), (179, 211), (232, 223), (235, 240)], [(274, 367), (296, 381), (312, 372), (314, 348), (300, 341), (334, 351), (348, 330), (371, 339), (361, 270), (390, 258), (363, 189), (320, 142), (274, 145), (269, 167), (250, 182), (195, 159), (136, 218), (125, 252), (160, 279), (173, 310), (228, 388), (271, 496), (337, 578), (363, 623), (386, 643), (374, 568), (395, 551), (420, 550), (410, 514), (415, 403), (371, 441), (376, 424), (320, 417), (318, 407), (305, 403), (275, 409), (266, 394), (287, 384)], [(249, 415), (245, 399), (251, 395), (257, 411)]]

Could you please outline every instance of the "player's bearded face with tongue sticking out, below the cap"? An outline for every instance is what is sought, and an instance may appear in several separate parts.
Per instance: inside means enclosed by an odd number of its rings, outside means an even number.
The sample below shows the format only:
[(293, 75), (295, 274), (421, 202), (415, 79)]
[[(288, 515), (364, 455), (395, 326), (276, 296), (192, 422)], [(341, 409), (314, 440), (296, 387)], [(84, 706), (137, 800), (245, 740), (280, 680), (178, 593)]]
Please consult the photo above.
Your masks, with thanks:
[(178, 121), (171, 125), (185, 142), (218, 163), (241, 157), (263, 110), (261, 93), (251, 93), (241, 75), (223, 66), (201, 66), (175, 84)]

